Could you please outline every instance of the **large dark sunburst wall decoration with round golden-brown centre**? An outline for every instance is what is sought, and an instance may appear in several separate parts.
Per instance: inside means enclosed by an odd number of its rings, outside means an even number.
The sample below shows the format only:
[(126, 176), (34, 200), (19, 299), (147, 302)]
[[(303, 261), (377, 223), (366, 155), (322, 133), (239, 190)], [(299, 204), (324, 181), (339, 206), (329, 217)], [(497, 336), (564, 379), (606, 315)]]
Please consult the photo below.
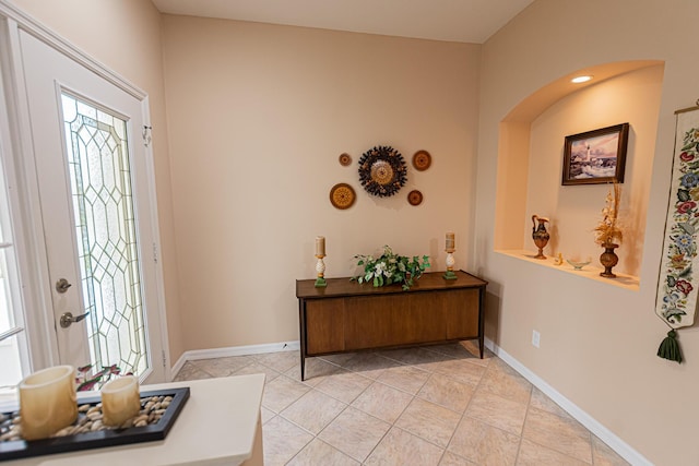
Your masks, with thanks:
[(407, 167), (400, 152), (378, 145), (362, 155), (359, 181), (371, 195), (388, 198), (400, 191), (407, 181)]

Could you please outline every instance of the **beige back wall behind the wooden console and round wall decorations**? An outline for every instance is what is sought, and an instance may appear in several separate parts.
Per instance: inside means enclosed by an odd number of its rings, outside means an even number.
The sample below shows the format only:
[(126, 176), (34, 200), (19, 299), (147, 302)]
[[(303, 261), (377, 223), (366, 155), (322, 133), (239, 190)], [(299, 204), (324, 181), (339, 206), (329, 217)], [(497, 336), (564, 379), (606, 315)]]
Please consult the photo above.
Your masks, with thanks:
[[(330, 277), (387, 243), (443, 271), (447, 230), (465, 265), (479, 46), (171, 15), (163, 26), (188, 349), (298, 339), (295, 279), (315, 277), (317, 235)], [(433, 166), (369, 196), (357, 162), (379, 144), (408, 164), (427, 150)], [(347, 211), (329, 202), (339, 182), (357, 194)]]

